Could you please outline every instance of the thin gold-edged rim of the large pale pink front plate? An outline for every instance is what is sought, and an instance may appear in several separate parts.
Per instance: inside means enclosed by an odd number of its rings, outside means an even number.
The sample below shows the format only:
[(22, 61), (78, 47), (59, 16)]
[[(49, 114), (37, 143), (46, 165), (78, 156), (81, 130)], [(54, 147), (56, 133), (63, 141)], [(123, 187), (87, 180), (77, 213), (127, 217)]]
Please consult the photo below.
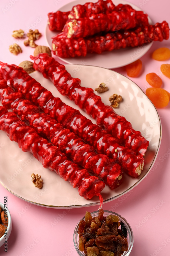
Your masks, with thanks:
[[(64, 64), (64, 66), (81, 66), (81, 67), (82, 67), (82, 65), (79, 65), (79, 64)], [(103, 67), (98, 67), (98, 66), (93, 66), (93, 65), (83, 65), (83, 67), (86, 67), (86, 66), (88, 66), (88, 67), (95, 67), (95, 68), (102, 68), (102, 69), (108, 70), (107, 68), (103, 68)], [(132, 83), (135, 84), (135, 86), (137, 86), (137, 87), (140, 89), (140, 91), (146, 96), (146, 98), (148, 98), (148, 96), (145, 94), (145, 92), (143, 92), (143, 90), (142, 90), (134, 81), (132, 81), (130, 78), (126, 77), (126, 76), (123, 75), (123, 74), (120, 74), (120, 73), (117, 72), (117, 71), (110, 70), (110, 69), (109, 69), (109, 71), (114, 72), (114, 73), (117, 73), (117, 74), (119, 74), (119, 75), (125, 77), (126, 79), (130, 80)], [(34, 71), (34, 72), (39, 73), (38, 71)], [(33, 73), (34, 73), (34, 72), (33, 72)], [(44, 78), (44, 79), (46, 79), (46, 78)], [(149, 98), (148, 98), (148, 99), (149, 99)], [(140, 182), (142, 182), (142, 180), (148, 175), (148, 173), (150, 172), (150, 170), (151, 170), (152, 167), (153, 167), (153, 164), (154, 164), (155, 161), (156, 161), (156, 158), (157, 158), (157, 156), (158, 156), (158, 152), (159, 152), (159, 149), (160, 149), (160, 145), (161, 145), (161, 139), (162, 139), (162, 124), (161, 124), (161, 119), (160, 119), (160, 116), (159, 116), (159, 113), (158, 113), (156, 107), (154, 106), (154, 104), (152, 103), (152, 101), (151, 101), (150, 99), (149, 99), (149, 101), (151, 102), (151, 104), (153, 105), (154, 109), (156, 110), (156, 113), (157, 113), (158, 118), (159, 118), (159, 123), (160, 123), (159, 144), (158, 144), (158, 148), (157, 148), (157, 151), (156, 151), (156, 153), (155, 153), (155, 156), (154, 156), (154, 158), (153, 158), (153, 161), (152, 161), (152, 163), (151, 163), (149, 169), (147, 170), (147, 172), (146, 172), (139, 180), (137, 180), (137, 182), (136, 182), (134, 185), (132, 185), (131, 187), (129, 187), (128, 189), (126, 189), (125, 191), (123, 191), (123, 192), (122, 192), (121, 194), (119, 194), (119, 195), (116, 195), (116, 196), (111, 197), (111, 198), (109, 198), (109, 199), (103, 200), (103, 204), (104, 204), (104, 203), (107, 203), (107, 202), (110, 202), (110, 201), (113, 201), (113, 200), (115, 200), (115, 199), (117, 199), (117, 198), (123, 196), (124, 194), (126, 194), (127, 192), (129, 192), (130, 190), (132, 190), (132, 188), (136, 187), (136, 186), (137, 186)], [(65, 208), (65, 209), (67, 209), (67, 208), (72, 208), (72, 209), (74, 209), (74, 208), (82, 208), (82, 207), (95, 206), (95, 205), (99, 205), (99, 204), (100, 204), (100, 202), (93, 202), (93, 203), (89, 203), (89, 204), (85, 204), (85, 205), (71, 205), (71, 206), (69, 206), (69, 205), (68, 205), (68, 206), (54, 206), (54, 205), (41, 204), (41, 203), (33, 202), (33, 201), (31, 201), (31, 200), (22, 198), (21, 196), (17, 195), (16, 193), (12, 192), (9, 188), (7, 188), (1, 181), (0, 181), (0, 183), (3, 185), (3, 187), (4, 187), (5, 189), (7, 189), (7, 190), (8, 190), (10, 193), (12, 193), (13, 195), (15, 195), (15, 196), (21, 198), (21, 199), (24, 200), (24, 201), (27, 201), (27, 202), (31, 203), (31, 204), (39, 205), (39, 206), (42, 206), (42, 207), (58, 208), (58, 209), (62, 209), (62, 208)]]

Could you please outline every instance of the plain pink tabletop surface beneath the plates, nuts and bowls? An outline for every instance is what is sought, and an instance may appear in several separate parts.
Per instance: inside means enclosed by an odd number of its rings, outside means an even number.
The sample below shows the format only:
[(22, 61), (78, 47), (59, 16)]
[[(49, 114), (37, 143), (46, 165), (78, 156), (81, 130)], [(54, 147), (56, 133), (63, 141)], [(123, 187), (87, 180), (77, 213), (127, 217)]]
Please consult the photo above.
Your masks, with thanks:
[[(9, 64), (19, 64), (23, 60), (29, 60), (33, 49), (24, 47), (23, 40), (19, 45), (23, 53), (12, 55), (8, 47), (17, 41), (11, 37), (16, 29), (39, 29), (43, 33), (38, 45), (46, 45), (44, 31), (47, 22), (47, 13), (57, 10), (69, 0), (55, 1), (22, 1), (3, 0), (0, 2), (1, 38), (0, 61)], [(169, 20), (170, 3), (167, 0), (131, 0), (132, 3), (142, 8), (153, 23)], [(32, 25), (33, 24), (33, 25)], [(34, 26), (34, 27), (33, 27)], [(159, 47), (169, 47), (169, 40), (154, 42), (145, 56), (141, 58), (143, 71), (139, 78), (132, 79), (141, 89), (148, 87), (145, 76), (149, 72), (159, 72), (162, 63), (151, 59), (151, 53)], [(134, 49), (134, 54), (137, 52)], [(126, 75), (124, 68), (116, 69)], [(169, 79), (164, 77), (163, 88), (170, 91)], [(162, 142), (160, 151), (149, 175), (130, 193), (103, 205), (105, 210), (114, 210), (122, 215), (131, 225), (134, 233), (134, 246), (132, 256), (168, 256), (170, 251), (170, 224), (169, 224), (169, 107), (158, 109), (162, 122)], [(154, 124), (151, 124), (154, 125)], [(0, 145), (0, 152), (3, 145)], [(37, 191), (39, 193), (39, 191)], [(7, 255), (77, 255), (73, 244), (73, 231), (77, 222), (85, 215), (85, 208), (80, 209), (48, 209), (27, 204), (25, 201), (10, 194), (3, 186), (0, 186), (0, 201), (8, 196), (8, 208), (12, 218), (12, 232), (8, 239)], [(97, 210), (97, 207), (88, 207), (88, 211)], [(4, 255), (4, 248), (0, 248), (0, 254)]]

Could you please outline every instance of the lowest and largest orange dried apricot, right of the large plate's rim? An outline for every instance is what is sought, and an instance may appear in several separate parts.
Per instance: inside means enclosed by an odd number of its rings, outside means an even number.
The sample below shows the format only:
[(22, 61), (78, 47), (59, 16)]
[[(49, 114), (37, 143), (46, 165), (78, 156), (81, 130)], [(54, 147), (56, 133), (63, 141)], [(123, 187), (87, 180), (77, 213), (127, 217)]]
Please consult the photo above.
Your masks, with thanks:
[(164, 108), (169, 103), (169, 96), (167, 92), (162, 88), (147, 88), (146, 95), (156, 108)]

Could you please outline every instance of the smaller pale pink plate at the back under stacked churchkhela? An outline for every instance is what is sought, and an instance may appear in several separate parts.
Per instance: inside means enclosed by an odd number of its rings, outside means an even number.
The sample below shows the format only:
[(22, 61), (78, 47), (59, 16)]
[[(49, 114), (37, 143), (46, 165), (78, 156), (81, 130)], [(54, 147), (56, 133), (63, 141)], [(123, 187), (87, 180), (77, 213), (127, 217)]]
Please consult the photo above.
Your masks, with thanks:
[[(90, 0), (93, 3), (96, 3), (97, 0)], [(59, 10), (62, 12), (66, 12), (72, 9), (74, 5), (77, 4), (85, 4), (87, 0), (76, 0), (71, 3), (68, 3), (64, 6), (62, 6)], [(115, 5), (118, 5), (120, 3), (122, 4), (129, 4), (131, 5), (135, 10), (141, 10), (139, 7), (137, 7), (134, 4), (131, 4), (126, 1), (121, 0), (114, 0), (113, 1)], [(54, 10), (55, 12), (56, 10)], [(149, 23), (151, 24), (151, 19), (149, 19)], [(57, 32), (50, 31), (48, 28), (48, 24), (45, 29), (45, 37), (48, 46), (51, 49), (52, 45), (52, 39), (51, 37), (55, 36)], [(84, 64), (84, 65), (92, 65), (92, 66), (98, 66), (103, 68), (119, 68), (123, 67), (125, 65), (128, 65), (129, 63), (132, 63), (133, 61), (140, 59), (146, 52), (150, 49), (153, 42), (151, 42), (149, 45), (146, 46), (139, 46), (139, 47), (132, 47), (132, 48), (125, 48), (125, 49), (119, 49), (114, 50), (111, 52), (102, 52), (102, 54), (87, 54), (86, 57), (77, 57), (77, 58), (60, 58), (61, 60), (65, 61), (69, 64)]]

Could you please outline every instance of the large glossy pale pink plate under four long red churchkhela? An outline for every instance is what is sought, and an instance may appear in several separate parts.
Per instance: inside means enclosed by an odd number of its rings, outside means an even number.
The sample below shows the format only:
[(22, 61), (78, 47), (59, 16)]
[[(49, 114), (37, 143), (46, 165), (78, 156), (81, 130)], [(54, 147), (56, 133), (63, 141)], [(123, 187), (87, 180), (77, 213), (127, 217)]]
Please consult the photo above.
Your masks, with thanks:
[[(100, 94), (102, 101), (109, 104), (109, 97), (113, 93), (122, 95), (123, 102), (115, 111), (125, 116), (135, 130), (141, 131), (147, 140), (150, 141), (147, 155), (150, 158), (138, 179), (125, 175), (124, 183), (117, 189), (111, 190), (105, 187), (102, 191), (104, 202), (111, 201), (132, 189), (139, 184), (147, 175), (154, 164), (161, 142), (161, 122), (158, 112), (145, 93), (131, 80), (115, 71), (93, 67), (66, 65), (67, 71), (74, 78), (80, 78), (82, 86), (97, 88), (98, 84), (105, 82), (109, 91)], [(55, 97), (61, 98), (63, 102), (79, 109), (74, 102), (62, 96), (49, 80), (41, 73), (31, 74), (45, 88), (50, 90)], [(96, 93), (97, 94), (97, 93)], [(79, 109), (80, 110), (80, 109)], [(80, 112), (96, 124), (84, 111)], [(0, 131), (0, 182), (13, 194), (24, 200), (46, 207), (83, 207), (99, 204), (99, 198), (86, 200), (68, 182), (62, 180), (56, 173), (43, 168), (42, 164), (32, 157), (30, 153), (22, 152), (18, 144), (11, 142), (7, 135)], [(42, 176), (43, 188), (34, 187), (31, 174), (37, 173)]]

